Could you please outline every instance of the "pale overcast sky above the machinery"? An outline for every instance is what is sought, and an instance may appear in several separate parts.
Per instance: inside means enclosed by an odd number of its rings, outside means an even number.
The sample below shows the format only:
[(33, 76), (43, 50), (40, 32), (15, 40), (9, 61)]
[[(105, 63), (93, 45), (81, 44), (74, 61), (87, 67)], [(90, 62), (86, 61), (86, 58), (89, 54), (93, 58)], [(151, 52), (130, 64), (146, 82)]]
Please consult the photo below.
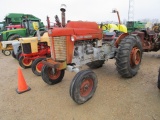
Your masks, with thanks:
[[(66, 20), (84, 21), (115, 21), (118, 22), (117, 9), (121, 21), (128, 20), (129, 0), (1, 0), (0, 21), (8, 13), (33, 14), (46, 24), (49, 16), (54, 22), (54, 16), (61, 19), (60, 6), (66, 4)], [(160, 0), (134, 0), (134, 20), (160, 19)]]

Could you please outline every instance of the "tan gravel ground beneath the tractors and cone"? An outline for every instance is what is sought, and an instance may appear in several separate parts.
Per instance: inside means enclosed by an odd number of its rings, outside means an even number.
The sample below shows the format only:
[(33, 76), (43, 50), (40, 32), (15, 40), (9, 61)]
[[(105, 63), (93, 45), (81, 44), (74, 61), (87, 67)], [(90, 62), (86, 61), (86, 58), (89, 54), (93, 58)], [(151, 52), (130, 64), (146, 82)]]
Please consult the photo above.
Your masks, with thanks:
[(98, 87), (93, 98), (77, 105), (69, 95), (75, 73), (66, 71), (61, 83), (50, 86), (31, 69), (22, 69), (31, 90), (17, 94), (19, 64), (0, 53), (0, 120), (160, 120), (159, 55), (160, 51), (144, 53), (131, 79), (118, 74), (114, 59), (107, 61), (94, 70)]

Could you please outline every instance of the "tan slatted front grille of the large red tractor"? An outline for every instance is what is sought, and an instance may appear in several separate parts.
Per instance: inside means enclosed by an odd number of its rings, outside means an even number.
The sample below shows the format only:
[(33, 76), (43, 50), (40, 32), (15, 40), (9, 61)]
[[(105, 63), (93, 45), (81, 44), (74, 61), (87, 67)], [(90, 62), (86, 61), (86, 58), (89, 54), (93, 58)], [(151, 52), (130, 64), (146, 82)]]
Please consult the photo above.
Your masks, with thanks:
[(54, 50), (56, 61), (66, 61), (66, 37), (54, 37)]

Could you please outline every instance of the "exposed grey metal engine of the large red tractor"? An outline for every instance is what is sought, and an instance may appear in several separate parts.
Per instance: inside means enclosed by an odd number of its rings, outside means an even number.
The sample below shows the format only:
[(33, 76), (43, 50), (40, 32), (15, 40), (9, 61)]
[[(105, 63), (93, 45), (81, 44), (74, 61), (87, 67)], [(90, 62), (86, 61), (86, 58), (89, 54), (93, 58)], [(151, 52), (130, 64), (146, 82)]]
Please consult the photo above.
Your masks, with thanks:
[(112, 48), (111, 43), (102, 40), (75, 42), (72, 63), (84, 65), (97, 60), (107, 60)]

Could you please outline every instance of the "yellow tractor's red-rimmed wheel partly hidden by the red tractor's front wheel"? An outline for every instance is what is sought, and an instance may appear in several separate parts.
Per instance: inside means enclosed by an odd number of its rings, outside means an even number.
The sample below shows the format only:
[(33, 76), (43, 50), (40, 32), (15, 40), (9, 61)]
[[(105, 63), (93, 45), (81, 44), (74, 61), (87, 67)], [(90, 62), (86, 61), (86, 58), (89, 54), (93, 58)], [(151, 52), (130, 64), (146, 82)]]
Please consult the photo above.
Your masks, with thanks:
[(43, 63), (42, 60), (44, 60), (46, 58), (37, 58), (33, 61), (32, 63), (32, 72), (37, 75), (37, 76), (41, 76), (41, 71), (42, 71), (42, 67), (43, 67)]

